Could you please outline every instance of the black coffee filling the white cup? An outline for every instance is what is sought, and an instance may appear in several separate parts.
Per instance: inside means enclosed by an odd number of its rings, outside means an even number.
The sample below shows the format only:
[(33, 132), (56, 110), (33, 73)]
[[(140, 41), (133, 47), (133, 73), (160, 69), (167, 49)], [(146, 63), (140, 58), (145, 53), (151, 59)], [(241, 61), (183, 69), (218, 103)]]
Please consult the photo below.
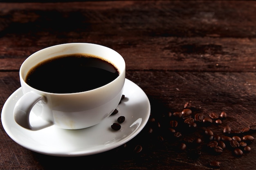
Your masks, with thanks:
[(40, 91), (76, 93), (112, 82), (117, 68), (99, 57), (87, 54), (61, 55), (31, 68), (25, 82)]

